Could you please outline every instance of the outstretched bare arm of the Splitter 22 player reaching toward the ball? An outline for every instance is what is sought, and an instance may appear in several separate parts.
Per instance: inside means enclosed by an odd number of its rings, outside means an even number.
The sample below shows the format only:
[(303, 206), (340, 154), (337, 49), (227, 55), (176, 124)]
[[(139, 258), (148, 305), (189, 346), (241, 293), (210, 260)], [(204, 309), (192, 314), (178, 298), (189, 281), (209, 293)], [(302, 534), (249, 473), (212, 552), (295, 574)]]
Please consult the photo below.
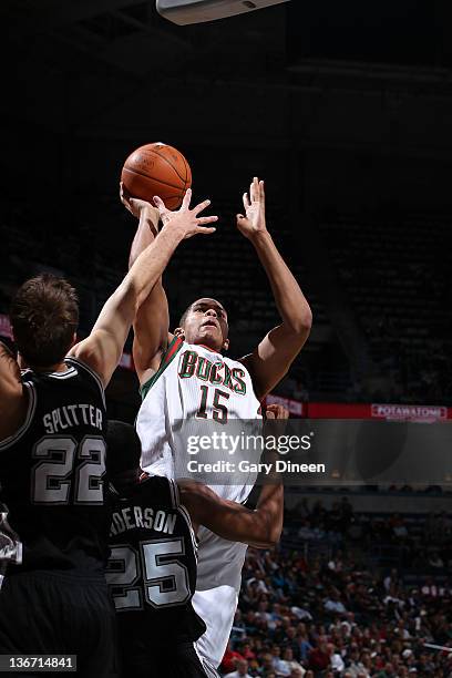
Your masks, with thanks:
[(181, 240), (199, 233), (213, 233), (205, 224), (217, 217), (199, 217), (206, 203), (185, 209), (171, 219), (136, 258), (129, 274), (107, 299), (91, 335), (74, 346), (70, 355), (86, 362), (106, 386), (116, 369), (129, 330), (140, 306), (148, 297)]

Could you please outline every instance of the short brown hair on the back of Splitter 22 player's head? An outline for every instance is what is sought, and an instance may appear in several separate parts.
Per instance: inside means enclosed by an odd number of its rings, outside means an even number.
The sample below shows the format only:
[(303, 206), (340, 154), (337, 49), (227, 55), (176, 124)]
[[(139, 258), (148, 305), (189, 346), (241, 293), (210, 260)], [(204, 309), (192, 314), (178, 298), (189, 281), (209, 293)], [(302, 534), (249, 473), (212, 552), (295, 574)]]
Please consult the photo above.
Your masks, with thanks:
[(11, 304), (19, 352), (30, 366), (50, 367), (68, 353), (79, 325), (79, 299), (64, 278), (42, 274), (27, 280)]

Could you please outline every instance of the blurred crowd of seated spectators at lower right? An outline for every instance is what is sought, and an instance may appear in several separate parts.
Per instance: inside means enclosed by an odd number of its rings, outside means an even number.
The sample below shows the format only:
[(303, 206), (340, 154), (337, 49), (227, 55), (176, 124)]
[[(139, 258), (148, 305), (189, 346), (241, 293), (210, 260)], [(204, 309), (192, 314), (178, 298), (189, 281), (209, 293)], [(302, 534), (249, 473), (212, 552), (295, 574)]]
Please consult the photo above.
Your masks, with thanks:
[[(368, 557), (374, 530), (361, 535), (359, 547), (350, 530), (360, 523), (351, 505), (338, 502), (326, 511), (320, 502), (289, 527), (277, 552), (248, 549), (239, 605), (222, 664), (228, 678), (399, 678), (452, 676), (452, 583), (441, 551), (411, 568), (382, 567)], [(337, 514), (337, 515), (335, 515)], [(336, 530), (328, 530), (333, 518)], [(403, 516), (381, 521), (387, 535), (410, 540)], [(440, 522), (443, 534), (427, 531)], [(370, 523), (371, 524), (371, 523)], [(446, 515), (424, 520), (427, 547), (445, 540)], [(309, 537), (336, 535), (329, 547)], [(407, 534), (404, 534), (404, 530)], [(384, 532), (384, 531), (383, 531)], [(298, 548), (292, 546), (298, 540)], [(327, 536), (325, 536), (327, 535)], [(311, 535), (310, 535), (311, 536)], [(337, 538), (340, 537), (340, 538)], [(433, 540), (433, 541), (432, 541)], [(436, 565), (439, 563), (436, 562)]]

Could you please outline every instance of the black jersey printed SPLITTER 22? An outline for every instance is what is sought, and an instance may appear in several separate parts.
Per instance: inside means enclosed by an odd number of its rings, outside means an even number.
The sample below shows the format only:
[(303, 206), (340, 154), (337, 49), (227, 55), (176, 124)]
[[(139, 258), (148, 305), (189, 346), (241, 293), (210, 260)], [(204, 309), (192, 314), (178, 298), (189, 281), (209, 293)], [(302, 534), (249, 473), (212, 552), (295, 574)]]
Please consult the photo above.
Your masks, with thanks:
[(8, 574), (101, 572), (106, 561), (104, 391), (88, 366), (65, 362), (64, 372), (22, 372), (27, 418), (0, 442), (1, 500), (22, 543)]

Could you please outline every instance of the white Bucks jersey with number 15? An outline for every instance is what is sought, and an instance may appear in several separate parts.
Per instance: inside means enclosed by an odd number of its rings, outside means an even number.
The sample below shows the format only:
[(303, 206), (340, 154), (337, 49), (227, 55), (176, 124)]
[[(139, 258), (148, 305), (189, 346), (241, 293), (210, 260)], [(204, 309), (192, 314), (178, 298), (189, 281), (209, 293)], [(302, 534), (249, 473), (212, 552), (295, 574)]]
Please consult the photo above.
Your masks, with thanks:
[[(242, 362), (220, 353), (174, 338), (157, 372), (142, 387), (143, 402), (136, 418), (142, 443), (142, 468), (167, 477), (187, 477), (186, 439), (208, 433), (208, 424), (228, 422), (227, 432), (238, 432), (234, 420), (256, 422), (260, 432), (260, 403), (251, 378)], [(183, 433), (181, 428), (184, 428)], [(237, 423), (238, 427), (238, 423)], [(249, 425), (248, 425), (249, 430)], [(214, 461), (212, 452), (209, 461)], [(224, 458), (225, 459), (225, 458)], [(210, 484), (212, 475), (202, 480), (223, 499), (243, 503), (256, 474), (237, 474), (237, 484)]]

